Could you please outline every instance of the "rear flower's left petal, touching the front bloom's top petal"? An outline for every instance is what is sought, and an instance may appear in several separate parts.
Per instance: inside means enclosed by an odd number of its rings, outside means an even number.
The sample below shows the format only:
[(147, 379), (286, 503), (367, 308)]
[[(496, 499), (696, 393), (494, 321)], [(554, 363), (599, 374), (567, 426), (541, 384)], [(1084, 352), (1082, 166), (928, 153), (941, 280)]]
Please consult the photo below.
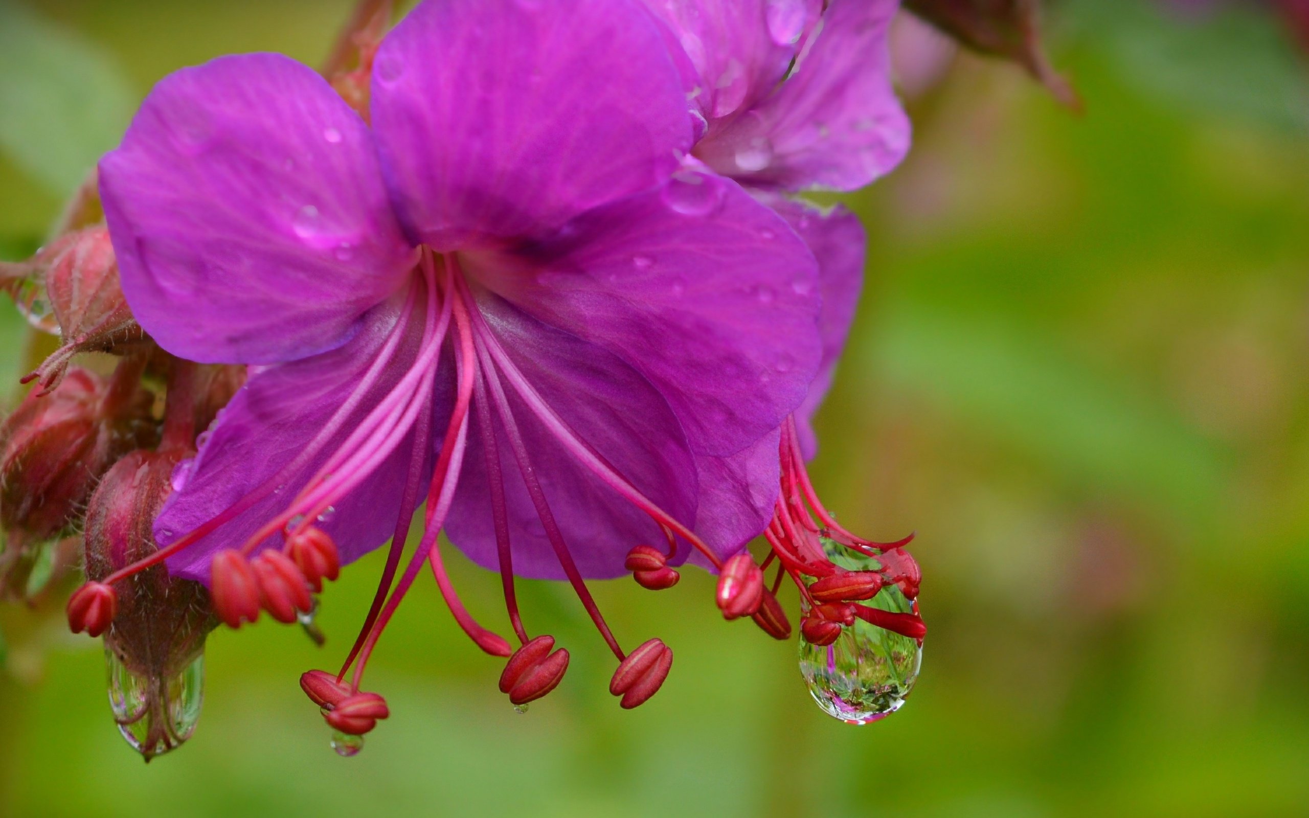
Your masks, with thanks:
[(819, 0), (645, 0), (673, 31), (698, 77), (694, 101), (723, 120), (772, 92), (796, 56)]

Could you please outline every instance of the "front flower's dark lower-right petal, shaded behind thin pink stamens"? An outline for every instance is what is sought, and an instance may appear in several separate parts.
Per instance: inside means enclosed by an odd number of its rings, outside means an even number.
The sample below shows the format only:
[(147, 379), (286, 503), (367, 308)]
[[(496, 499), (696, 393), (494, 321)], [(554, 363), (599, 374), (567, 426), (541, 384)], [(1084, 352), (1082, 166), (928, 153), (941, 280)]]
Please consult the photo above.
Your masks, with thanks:
[[(492, 331), (541, 398), (647, 497), (683, 525), (691, 525), (696, 499), (695, 463), (664, 397), (640, 373), (605, 349), (545, 326), (492, 293), (480, 293), (479, 302)], [(501, 378), (501, 382), (550, 510), (583, 575), (594, 578), (622, 576), (626, 573), (623, 560), (634, 546), (662, 544), (658, 526), (579, 463), (508, 380)], [(487, 431), (475, 418), (474, 414), (446, 529), (450, 542), (475, 563), (497, 569), (491, 489), (483, 455)], [(500, 428), (499, 421), (496, 428)], [(508, 500), (513, 572), (524, 577), (562, 578), (564, 573), (503, 431), (497, 431), (496, 446)], [(677, 561), (686, 559), (686, 550), (683, 544)]]

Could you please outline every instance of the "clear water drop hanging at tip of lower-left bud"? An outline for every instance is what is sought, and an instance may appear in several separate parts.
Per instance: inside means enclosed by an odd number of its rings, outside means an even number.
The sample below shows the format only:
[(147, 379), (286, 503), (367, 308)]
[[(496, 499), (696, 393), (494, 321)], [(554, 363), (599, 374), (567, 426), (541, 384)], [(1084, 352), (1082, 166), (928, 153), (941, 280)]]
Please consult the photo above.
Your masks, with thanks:
[(118, 732), (147, 759), (168, 753), (195, 732), (204, 703), (204, 654), (170, 677), (128, 667), (109, 645), (109, 705)]

